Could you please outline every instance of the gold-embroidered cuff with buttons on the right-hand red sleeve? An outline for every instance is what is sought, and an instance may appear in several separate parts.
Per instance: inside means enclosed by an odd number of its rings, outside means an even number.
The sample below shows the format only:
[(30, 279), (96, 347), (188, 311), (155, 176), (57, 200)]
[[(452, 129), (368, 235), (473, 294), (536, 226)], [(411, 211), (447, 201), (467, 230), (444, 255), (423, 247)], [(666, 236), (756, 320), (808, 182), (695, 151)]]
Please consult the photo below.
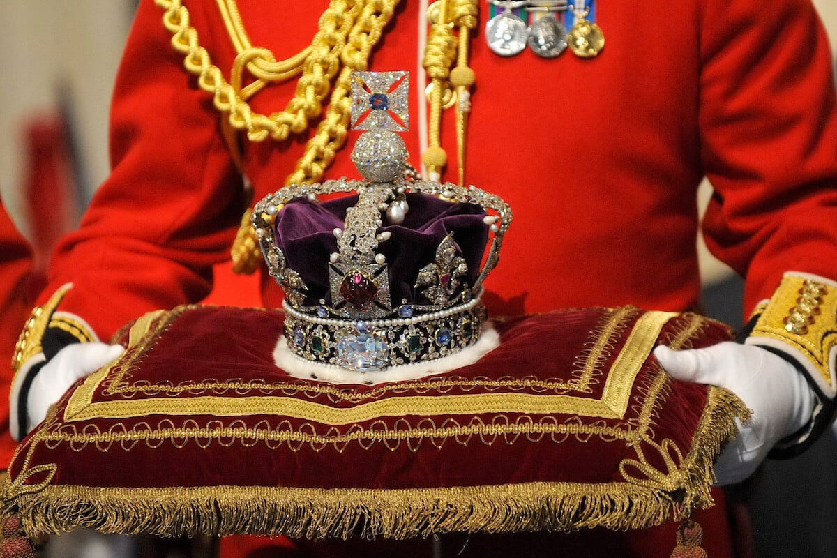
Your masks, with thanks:
[(793, 356), (809, 377), (833, 399), (837, 395), (837, 284), (815, 275), (785, 274), (764, 306), (747, 343)]

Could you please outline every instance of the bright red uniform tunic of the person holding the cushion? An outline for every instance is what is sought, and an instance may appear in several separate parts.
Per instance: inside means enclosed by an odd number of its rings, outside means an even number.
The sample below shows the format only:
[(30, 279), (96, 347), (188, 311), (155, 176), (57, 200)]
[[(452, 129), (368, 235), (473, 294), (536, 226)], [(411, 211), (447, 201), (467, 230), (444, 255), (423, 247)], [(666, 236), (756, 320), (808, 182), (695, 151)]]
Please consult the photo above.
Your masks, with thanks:
[[(199, 43), (229, 79), (235, 51), (216, 3), (185, 5)], [(277, 59), (311, 43), (325, 8), (324, 0), (239, 2), (252, 43)], [(368, 69), (415, 71), (425, 8), (423, 0), (400, 3)], [(466, 182), (500, 194), (515, 213), (503, 261), (486, 282), (490, 312), (695, 306), (704, 176), (716, 195), (703, 232), (746, 277), (747, 311), (788, 269), (837, 279), (837, 107), (809, 0), (601, 0), (597, 9), (607, 44), (596, 59), (528, 51), (504, 59), (481, 32), (471, 41)], [(116, 83), (113, 172), (80, 230), (59, 246), (44, 295), (73, 282), (60, 310), (103, 339), (147, 310), (207, 294), (211, 266), (229, 258), (244, 208), (220, 133), (226, 116), (183, 69), (162, 13), (141, 2)], [(281, 110), (294, 86), (270, 84), (250, 105)], [(424, 84), (411, 85), (413, 119), (419, 90)], [(442, 141), (449, 180), (452, 113)], [(414, 166), (418, 127), (404, 134)], [(242, 141), (256, 199), (284, 184), (306, 138)], [(348, 150), (326, 173), (344, 175), (357, 177)], [(264, 304), (279, 305), (280, 289), (263, 284)], [(661, 556), (672, 548), (657, 546)]]

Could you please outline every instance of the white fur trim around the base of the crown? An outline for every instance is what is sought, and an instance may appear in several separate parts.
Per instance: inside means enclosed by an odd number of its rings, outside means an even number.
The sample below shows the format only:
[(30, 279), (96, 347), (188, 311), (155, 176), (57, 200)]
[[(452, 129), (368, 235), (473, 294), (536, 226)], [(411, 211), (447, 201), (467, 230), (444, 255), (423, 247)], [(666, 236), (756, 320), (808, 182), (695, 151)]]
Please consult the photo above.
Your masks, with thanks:
[(280, 335), (273, 351), (276, 366), (289, 376), (303, 380), (328, 381), (332, 384), (365, 384), (375, 386), (390, 381), (417, 380), (434, 374), (444, 374), (479, 361), (490, 351), (500, 346), (500, 335), (490, 323), (486, 323), (480, 339), (474, 345), (466, 347), (453, 355), (444, 356), (434, 361), (413, 362), (400, 366), (390, 366), (383, 371), (357, 372), (347, 368), (326, 366), (318, 362), (306, 361), (296, 356), (288, 348), (285, 335)]

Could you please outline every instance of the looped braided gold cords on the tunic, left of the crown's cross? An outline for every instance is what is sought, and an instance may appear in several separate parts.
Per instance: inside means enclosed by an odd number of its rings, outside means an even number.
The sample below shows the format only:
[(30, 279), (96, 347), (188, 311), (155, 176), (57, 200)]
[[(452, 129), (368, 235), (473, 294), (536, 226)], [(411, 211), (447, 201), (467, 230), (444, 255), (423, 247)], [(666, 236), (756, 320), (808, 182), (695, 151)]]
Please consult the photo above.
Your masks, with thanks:
[[(164, 8), (163, 24), (172, 33), (172, 45), (184, 54), (184, 67), (198, 76), (198, 85), (213, 94), (213, 104), (229, 116), (236, 130), (247, 131), (250, 141), (276, 141), (290, 134), (301, 134), (311, 119), (321, 115), (322, 101), (331, 92), (326, 116), (316, 134), (306, 144), (304, 155), (286, 183), (316, 182), (334, 160), (335, 152), (346, 143), (351, 118), (349, 76), (353, 69), (366, 69), (372, 48), (383, 28), (393, 17), (398, 0), (331, 0), (319, 21), (319, 31), (311, 46), (290, 59), (277, 62), (268, 49), (253, 47), (241, 23), (234, 0), (216, 0), (224, 25), (238, 55), (230, 75), (231, 83), (212, 63), (198, 43), (198, 32), (189, 25), (189, 12), (182, 0), (155, 0)], [(244, 84), (244, 70), (254, 81)], [(294, 97), (285, 110), (271, 115), (254, 113), (247, 100), (268, 81), (282, 81), (300, 74)], [(333, 91), (331, 80), (338, 75)], [(249, 220), (239, 227), (232, 248), (236, 272), (252, 274), (261, 259)]]

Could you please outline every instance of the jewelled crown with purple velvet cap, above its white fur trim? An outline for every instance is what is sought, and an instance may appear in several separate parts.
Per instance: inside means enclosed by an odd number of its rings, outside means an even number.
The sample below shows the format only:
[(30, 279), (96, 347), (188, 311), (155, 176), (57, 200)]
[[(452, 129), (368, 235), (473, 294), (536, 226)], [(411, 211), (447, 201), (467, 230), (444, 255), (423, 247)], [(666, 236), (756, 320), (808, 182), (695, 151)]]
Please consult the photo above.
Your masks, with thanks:
[(408, 129), (407, 90), (406, 72), (352, 74), (352, 127), (366, 131), (352, 161), (365, 181), (292, 184), (254, 207), (285, 291), (287, 347), (305, 361), (381, 371), (453, 355), (485, 327), (483, 283), (511, 208), (477, 187), (408, 176), (396, 133)]

